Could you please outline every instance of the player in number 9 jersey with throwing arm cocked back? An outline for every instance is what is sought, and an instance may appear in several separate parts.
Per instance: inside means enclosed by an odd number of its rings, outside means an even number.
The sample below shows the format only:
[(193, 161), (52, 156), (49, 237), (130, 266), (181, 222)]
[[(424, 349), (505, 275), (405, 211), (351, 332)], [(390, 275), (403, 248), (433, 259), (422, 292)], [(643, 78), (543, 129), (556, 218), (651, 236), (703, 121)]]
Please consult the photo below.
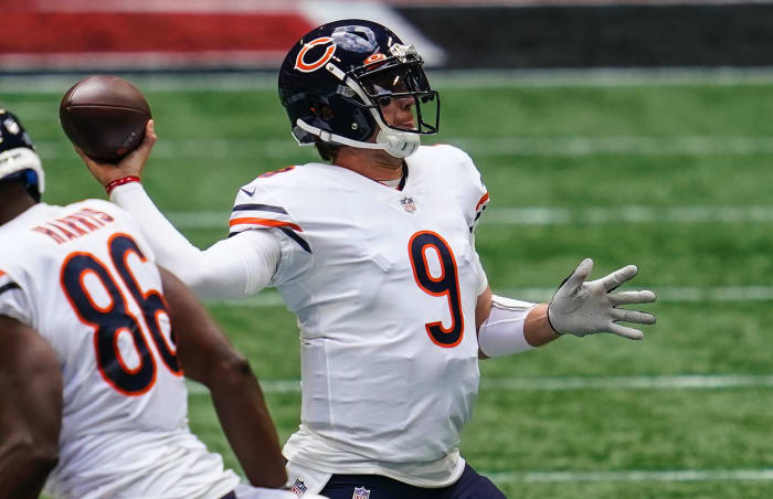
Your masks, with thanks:
[(655, 317), (617, 306), (655, 295), (611, 293), (633, 265), (586, 282), (585, 259), (550, 304), (494, 296), (473, 236), (488, 192), (459, 149), (420, 147), (421, 135), (437, 131), (440, 97), (416, 50), (386, 28), (345, 20), (311, 31), (287, 54), (279, 95), (296, 140), (329, 163), (242, 187), (230, 237), (207, 251), (135, 181), (152, 123), (118, 171), (84, 160), (114, 202), (152, 227), (159, 261), (197, 293), (245, 297), (275, 286), (297, 316), (301, 425), (284, 455), (299, 496), (504, 497), (458, 452), (478, 359), (563, 333), (639, 339), (617, 322)]

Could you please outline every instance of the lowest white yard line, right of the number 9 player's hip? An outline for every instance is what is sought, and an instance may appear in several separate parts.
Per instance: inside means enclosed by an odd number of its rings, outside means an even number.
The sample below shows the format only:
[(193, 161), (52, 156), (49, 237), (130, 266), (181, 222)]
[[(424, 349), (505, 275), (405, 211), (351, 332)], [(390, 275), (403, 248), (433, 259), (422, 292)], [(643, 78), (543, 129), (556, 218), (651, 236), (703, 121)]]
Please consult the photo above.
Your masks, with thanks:
[(773, 469), (667, 469), (622, 471), (491, 471), (497, 484), (579, 481), (771, 481)]

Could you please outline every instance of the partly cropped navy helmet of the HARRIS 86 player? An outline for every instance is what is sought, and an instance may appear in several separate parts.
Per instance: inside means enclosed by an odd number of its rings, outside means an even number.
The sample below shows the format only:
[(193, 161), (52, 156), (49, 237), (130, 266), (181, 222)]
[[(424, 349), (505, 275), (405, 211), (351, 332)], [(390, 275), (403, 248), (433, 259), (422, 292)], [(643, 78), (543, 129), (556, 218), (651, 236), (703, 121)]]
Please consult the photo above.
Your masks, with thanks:
[(19, 118), (0, 108), (0, 182), (11, 180), (24, 181), (30, 195), (40, 201), (45, 179), (35, 146)]

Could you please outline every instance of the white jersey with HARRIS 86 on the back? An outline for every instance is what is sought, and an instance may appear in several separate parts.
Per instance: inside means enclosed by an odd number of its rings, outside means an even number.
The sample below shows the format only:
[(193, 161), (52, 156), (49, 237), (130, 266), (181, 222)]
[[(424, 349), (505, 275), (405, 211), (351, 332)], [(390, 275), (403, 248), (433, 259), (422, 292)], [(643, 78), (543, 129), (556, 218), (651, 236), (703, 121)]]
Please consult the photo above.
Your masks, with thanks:
[(153, 254), (134, 219), (87, 200), (0, 226), (0, 315), (51, 344), (63, 380), (61, 498), (220, 498), (239, 484), (187, 422)]

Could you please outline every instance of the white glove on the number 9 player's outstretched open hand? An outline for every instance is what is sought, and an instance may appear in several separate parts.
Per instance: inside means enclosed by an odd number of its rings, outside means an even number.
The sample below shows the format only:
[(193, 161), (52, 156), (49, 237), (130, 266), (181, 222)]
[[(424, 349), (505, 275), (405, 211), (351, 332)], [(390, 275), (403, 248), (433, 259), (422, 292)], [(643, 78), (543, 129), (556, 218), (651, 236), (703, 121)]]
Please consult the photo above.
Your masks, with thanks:
[(583, 259), (550, 300), (548, 320), (555, 332), (578, 337), (595, 332), (612, 332), (631, 340), (644, 338), (644, 332), (638, 329), (621, 326), (617, 322), (653, 325), (656, 320), (655, 316), (617, 308), (617, 306), (652, 304), (656, 299), (655, 294), (649, 290), (611, 293), (636, 275), (638, 272), (636, 265), (625, 266), (606, 277), (586, 283), (585, 279), (591, 275), (593, 261)]

